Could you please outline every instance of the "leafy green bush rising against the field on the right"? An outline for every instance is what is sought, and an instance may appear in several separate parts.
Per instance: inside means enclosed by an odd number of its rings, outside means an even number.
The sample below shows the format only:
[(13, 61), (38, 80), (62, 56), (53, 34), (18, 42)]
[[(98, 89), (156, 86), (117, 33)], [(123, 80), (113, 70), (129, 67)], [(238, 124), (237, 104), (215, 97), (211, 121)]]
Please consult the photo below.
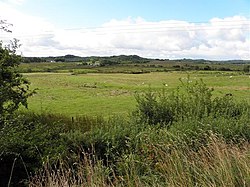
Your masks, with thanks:
[(194, 119), (201, 121), (206, 117), (240, 119), (249, 114), (250, 105), (236, 102), (232, 95), (213, 97), (213, 89), (200, 80), (186, 82), (167, 94), (165, 90), (155, 93), (152, 90), (136, 95), (135, 114), (140, 122), (171, 125), (173, 121)]

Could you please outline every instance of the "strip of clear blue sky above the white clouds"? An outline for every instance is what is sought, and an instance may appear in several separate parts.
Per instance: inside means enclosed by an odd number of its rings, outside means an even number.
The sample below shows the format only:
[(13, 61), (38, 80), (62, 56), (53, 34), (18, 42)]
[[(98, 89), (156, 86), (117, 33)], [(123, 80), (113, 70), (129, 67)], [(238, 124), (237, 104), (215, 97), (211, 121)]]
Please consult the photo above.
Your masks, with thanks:
[(26, 0), (16, 7), (62, 28), (96, 27), (127, 17), (207, 22), (213, 17), (250, 16), (250, 0)]

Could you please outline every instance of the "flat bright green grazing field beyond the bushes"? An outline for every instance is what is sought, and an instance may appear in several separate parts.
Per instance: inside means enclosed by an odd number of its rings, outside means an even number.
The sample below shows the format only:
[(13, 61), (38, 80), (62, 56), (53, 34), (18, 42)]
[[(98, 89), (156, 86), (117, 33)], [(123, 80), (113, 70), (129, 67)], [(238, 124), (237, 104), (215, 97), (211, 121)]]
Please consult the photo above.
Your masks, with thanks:
[(250, 76), (240, 72), (191, 71), (124, 73), (25, 73), (37, 94), (29, 99), (29, 109), (68, 116), (128, 114), (136, 107), (136, 92), (171, 90), (180, 80), (203, 79), (215, 95), (232, 93), (250, 101)]

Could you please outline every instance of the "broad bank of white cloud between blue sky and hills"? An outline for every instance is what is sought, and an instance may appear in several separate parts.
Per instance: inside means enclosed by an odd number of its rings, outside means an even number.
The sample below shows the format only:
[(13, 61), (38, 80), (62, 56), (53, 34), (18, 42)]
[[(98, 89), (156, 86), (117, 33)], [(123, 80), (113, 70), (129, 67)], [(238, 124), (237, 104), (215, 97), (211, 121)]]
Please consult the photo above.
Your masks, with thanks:
[[(208, 23), (113, 19), (98, 28), (57, 29), (47, 20), (0, 1), (0, 19), (13, 23), (25, 56), (137, 54), (154, 58), (250, 59), (250, 19), (212, 18)], [(2, 33), (1, 33), (2, 34)]]

